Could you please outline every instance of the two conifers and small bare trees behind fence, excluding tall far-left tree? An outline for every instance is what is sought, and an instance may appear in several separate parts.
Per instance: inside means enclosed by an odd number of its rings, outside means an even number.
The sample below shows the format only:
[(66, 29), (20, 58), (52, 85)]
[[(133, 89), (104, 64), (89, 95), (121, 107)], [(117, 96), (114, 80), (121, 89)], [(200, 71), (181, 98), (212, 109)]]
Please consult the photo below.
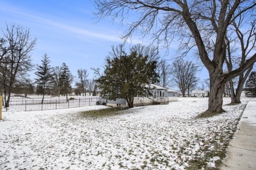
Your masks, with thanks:
[(78, 69), (77, 77), (70, 73), (70, 69), (66, 63), (62, 66), (51, 67), (51, 61), (47, 54), (43, 56), (41, 65), (37, 65), (35, 75), (35, 84), (37, 84), (36, 93), (44, 96), (48, 95), (66, 95), (68, 101), (68, 94), (72, 93), (72, 82), (75, 80), (75, 93), (77, 95), (86, 95), (87, 90), (89, 95), (93, 92), (96, 95), (96, 82), (94, 79), (89, 79), (87, 69)]

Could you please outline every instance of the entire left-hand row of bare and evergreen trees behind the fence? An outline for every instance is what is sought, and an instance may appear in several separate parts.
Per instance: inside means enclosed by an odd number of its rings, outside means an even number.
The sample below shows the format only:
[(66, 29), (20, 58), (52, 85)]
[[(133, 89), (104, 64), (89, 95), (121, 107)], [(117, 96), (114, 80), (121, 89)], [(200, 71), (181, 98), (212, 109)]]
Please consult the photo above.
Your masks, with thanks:
[(85, 95), (87, 89), (90, 93), (93, 89), (95, 90), (95, 80), (88, 79), (86, 69), (79, 69), (78, 76), (75, 78), (66, 63), (62, 63), (61, 67), (51, 67), (47, 54), (43, 56), (41, 65), (36, 66), (36, 78), (33, 83), (29, 73), (35, 68), (31, 52), (37, 39), (30, 37), (30, 29), (16, 24), (6, 25), (2, 33), (0, 36), (0, 95), (5, 97), (3, 100), (5, 107), (9, 107), (11, 93), (23, 93), (25, 97), (28, 93), (37, 93), (43, 95), (43, 99), (45, 94), (62, 94), (66, 95), (68, 100), (74, 79), (75, 91), (78, 94)]

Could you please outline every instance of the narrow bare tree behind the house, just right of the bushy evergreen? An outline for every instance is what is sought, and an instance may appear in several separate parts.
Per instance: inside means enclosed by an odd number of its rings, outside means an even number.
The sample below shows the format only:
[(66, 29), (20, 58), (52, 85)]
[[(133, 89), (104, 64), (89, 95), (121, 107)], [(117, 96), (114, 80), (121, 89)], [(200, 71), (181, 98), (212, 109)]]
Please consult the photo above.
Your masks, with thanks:
[(160, 76), (160, 86), (164, 88), (171, 87), (171, 64), (166, 59), (162, 59), (158, 65), (158, 74)]

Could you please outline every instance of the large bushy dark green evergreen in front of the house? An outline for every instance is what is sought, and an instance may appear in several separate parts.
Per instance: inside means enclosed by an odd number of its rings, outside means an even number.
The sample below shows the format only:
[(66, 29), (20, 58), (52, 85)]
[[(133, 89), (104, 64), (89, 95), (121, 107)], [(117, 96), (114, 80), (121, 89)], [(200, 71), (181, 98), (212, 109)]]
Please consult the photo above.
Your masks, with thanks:
[(104, 75), (96, 82), (102, 90), (102, 97), (110, 100), (123, 98), (129, 107), (133, 107), (134, 97), (147, 94), (146, 85), (157, 81), (157, 61), (148, 61), (148, 56), (135, 51), (130, 55), (122, 53), (119, 57), (106, 58)]

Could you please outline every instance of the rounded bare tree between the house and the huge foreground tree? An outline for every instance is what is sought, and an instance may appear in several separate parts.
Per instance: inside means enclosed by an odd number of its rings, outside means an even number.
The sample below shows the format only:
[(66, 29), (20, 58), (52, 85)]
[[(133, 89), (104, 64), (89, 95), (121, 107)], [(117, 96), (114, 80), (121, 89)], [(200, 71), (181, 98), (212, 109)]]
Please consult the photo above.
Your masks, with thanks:
[(183, 97), (185, 96), (186, 90), (189, 93), (195, 87), (196, 82), (198, 82), (198, 78), (196, 78), (197, 72), (198, 67), (192, 61), (180, 59), (173, 63), (173, 81), (181, 90)]

